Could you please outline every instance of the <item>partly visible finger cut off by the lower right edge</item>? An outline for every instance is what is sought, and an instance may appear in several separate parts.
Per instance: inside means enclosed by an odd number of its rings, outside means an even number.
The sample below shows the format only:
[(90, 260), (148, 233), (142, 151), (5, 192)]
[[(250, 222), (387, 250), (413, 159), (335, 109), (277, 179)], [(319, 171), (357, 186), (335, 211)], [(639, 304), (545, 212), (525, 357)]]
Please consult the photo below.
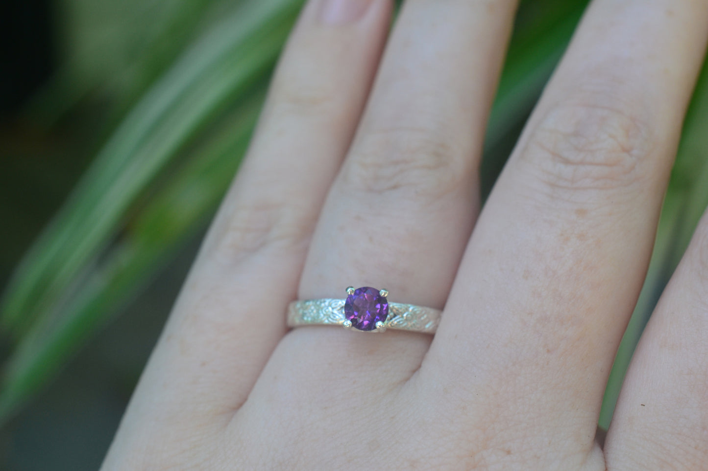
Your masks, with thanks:
[(708, 214), (664, 291), (624, 378), (607, 432), (611, 470), (708, 463)]

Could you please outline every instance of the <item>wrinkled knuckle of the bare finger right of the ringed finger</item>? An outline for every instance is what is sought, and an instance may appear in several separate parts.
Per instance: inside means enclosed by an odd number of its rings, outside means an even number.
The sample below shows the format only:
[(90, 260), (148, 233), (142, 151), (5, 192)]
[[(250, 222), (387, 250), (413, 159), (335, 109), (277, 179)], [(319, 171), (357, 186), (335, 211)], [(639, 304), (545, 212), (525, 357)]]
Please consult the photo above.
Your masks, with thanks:
[(522, 158), (554, 190), (611, 190), (641, 182), (651, 128), (617, 91), (580, 92), (554, 105)]

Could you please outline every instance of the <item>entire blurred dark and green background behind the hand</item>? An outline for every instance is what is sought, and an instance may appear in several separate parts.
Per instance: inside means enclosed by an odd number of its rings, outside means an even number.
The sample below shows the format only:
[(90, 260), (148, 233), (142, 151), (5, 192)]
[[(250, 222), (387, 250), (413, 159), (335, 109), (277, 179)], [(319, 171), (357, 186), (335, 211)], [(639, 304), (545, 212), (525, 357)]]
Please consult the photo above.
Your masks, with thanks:
[[(586, 0), (522, 1), (486, 195)], [(0, 469), (95, 470), (258, 116), (301, 0), (8, 0), (0, 74)], [(609, 424), (708, 203), (702, 74)]]

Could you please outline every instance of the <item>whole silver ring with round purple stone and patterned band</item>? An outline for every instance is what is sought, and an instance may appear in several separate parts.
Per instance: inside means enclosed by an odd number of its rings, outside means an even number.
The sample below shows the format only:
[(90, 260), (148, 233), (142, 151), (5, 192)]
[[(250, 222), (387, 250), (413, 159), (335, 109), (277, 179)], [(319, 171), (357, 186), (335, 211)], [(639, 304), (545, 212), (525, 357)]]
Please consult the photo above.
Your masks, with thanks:
[(385, 289), (349, 286), (346, 299), (293, 301), (287, 309), (287, 325), (341, 325), (362, 332), (396, 329), (426, 334), (438, 329), (439, 309), (389, 303), (388, 296)]

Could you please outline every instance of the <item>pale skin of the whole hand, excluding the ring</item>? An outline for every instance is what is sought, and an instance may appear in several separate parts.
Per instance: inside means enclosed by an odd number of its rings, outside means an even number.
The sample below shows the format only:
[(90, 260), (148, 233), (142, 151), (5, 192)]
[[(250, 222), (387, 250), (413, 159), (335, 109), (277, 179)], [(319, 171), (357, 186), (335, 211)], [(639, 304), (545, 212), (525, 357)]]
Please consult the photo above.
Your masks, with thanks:
[[(596, 439), (708, 1), (593, 1), (479, 214), (515, 8), (309, 1), (103, 470), (708, 469), (708, 216)], [(287, 330), (349, 285), (437, 334)]]

